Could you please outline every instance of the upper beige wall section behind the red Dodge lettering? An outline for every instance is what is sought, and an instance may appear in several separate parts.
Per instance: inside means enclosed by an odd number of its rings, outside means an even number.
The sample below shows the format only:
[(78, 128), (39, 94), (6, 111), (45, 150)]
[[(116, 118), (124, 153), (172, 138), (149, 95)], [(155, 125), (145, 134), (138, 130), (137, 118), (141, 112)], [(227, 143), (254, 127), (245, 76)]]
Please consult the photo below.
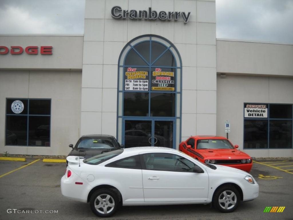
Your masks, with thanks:
[[(9, 53), (0, 55), (0, 68), (81, 69), (83, 36), (0, 35), (0, 46)], [(11, 46), (21, 46), (22, 54), (10, 54)], [(27, 54), (27, 46), (38, 46), (38, 54)], [(41, 46), (52, 46), (52, 55), (40, 54)]]

